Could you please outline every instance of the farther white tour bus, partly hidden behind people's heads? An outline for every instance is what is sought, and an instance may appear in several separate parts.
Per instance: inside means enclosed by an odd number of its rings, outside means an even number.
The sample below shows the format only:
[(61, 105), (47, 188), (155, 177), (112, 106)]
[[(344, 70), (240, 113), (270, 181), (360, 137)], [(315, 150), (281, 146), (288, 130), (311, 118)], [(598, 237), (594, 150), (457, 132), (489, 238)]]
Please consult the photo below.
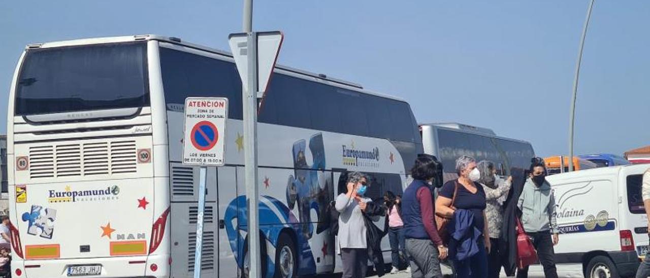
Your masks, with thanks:
[(443, 163), (445, 182), (458, 178), (456, 159), (469, 155), (491, 160), (499, 175), (510, 175), (510, 169), (528, 169), (535, 152), (530, 143), (497, 136), (491, 129), (461, 123), (421, 124), (424, 153), (435, 155)]

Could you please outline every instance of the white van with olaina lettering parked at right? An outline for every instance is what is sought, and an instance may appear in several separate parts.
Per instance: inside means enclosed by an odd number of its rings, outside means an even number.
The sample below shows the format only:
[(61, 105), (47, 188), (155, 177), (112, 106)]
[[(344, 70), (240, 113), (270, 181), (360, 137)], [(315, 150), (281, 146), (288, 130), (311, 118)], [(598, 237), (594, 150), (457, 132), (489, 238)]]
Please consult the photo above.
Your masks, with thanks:
[(555, 246), (560, 277), (634, 277), (647, 253), (641, 184), (649, 167), (614, 166), (547, 177), (560, 227)]

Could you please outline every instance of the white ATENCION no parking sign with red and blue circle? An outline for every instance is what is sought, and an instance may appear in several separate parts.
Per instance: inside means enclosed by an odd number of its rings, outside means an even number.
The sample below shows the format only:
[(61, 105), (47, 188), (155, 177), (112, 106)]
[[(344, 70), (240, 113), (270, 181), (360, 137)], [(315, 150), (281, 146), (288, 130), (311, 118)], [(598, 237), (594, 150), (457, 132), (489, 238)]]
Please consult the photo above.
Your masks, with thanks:
[(183, 164), (224, 165), (224, 138), (228, 99), (188, 97), (185, 99)]

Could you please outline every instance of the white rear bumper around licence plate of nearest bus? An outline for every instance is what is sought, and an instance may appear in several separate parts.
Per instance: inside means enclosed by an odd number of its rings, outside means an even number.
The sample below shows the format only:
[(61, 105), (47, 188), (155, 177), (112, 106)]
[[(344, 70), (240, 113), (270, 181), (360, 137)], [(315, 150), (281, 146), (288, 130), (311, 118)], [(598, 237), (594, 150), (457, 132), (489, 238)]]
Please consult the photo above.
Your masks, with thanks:
[[(22, 260), (12, 259), (12, 277), (68, 277), (70, 266), (99, 265), (99, 275), (70, 277), (170, 277), (170, 255), (104, 257), (88, 259)], [(17, 275), (17, 270), (21, 275)]]

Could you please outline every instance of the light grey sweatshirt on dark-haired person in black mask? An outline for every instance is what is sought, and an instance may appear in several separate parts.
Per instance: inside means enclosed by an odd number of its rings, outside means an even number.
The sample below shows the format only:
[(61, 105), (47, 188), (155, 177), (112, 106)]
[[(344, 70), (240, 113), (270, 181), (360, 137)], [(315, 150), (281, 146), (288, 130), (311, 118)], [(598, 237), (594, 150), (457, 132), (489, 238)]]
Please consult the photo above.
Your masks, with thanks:
[(560, 232), (556, 220), (555, 196), (547, 181), (538, 187), (530, 178), (526, 180), (517, 207), (522, 212), (521, 223), (527, 233), (549, 230), (551, 233)]

